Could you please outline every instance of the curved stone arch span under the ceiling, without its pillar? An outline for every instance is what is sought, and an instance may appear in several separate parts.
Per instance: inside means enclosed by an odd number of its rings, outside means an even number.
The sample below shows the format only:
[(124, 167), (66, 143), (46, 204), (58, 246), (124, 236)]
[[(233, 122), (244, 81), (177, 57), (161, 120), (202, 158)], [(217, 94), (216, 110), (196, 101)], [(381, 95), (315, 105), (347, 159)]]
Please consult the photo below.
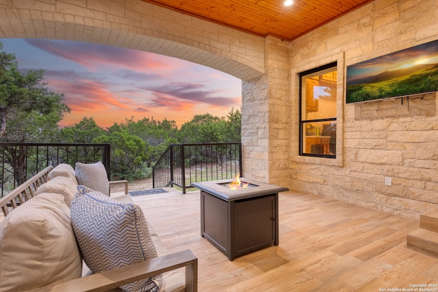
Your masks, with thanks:
[(2, 4), (1, 38), (96, 42), (185, 59), (244, 81), (263, 75), (262, 38), (140, 0), (78, 2)]

